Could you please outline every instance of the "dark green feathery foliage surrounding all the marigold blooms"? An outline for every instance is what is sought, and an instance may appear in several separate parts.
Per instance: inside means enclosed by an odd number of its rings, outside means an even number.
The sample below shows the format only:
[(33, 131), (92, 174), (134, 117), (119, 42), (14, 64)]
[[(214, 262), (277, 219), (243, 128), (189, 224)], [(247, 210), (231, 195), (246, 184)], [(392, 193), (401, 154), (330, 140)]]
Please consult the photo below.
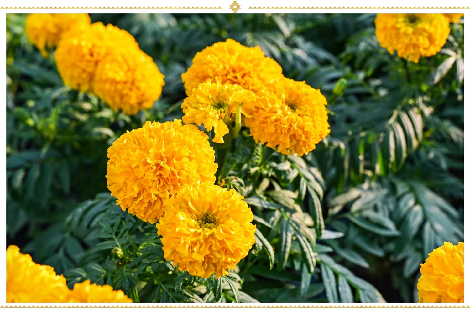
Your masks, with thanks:
[[(150, 110), (129, 117), (69, 90), (53, 55), (27, 43), (25, 15), (7, 15), (7, 245), (69, 285), (88, 278), (134, 302), (415, 302), (427, 254), (463, 241), (463, 22), (415, 64), (379, 46), (375, 14), (91, 17), (128, 30), (164, 73)], [(321, 89), (331, 134), (303, 158), (237, 138), (222, 175), (251, 206), (257, 242), (216, 281), (167, 263), (155, 226), (115, 205), (105, 174), (122, 133), (181, 117), (180, 75), (226, 38)]]

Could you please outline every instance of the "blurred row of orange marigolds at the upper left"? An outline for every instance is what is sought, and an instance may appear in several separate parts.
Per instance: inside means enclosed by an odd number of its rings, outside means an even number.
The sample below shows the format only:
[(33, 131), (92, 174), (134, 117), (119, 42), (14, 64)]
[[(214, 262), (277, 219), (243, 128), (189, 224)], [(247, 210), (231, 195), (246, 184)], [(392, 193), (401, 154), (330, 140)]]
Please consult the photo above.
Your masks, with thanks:
[(98, 96), (114, 111), (137, 114), (160, 97), (164, 75), (125, 30), (88, 14), (30, 14), (26, 37), (54, 59), (65, 85)]

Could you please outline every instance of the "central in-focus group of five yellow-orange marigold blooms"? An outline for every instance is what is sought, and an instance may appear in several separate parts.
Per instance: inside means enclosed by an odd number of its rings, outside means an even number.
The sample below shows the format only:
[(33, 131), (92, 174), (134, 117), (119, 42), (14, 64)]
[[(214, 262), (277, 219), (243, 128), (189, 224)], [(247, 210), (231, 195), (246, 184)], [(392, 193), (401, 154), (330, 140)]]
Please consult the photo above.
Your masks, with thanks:
[[(255, 243), (253, 214), (235, 190), (215, 185), (213, 142), (233, 138), (242, 122), (255, 141), (286, 154), (312, 151), (329, 133), (319, 90), (285, 78), (257, 47), (232, 39), (196, 54), (182, 75), (183, 120), (148, 121), (108, 149), (108, 188), (117, 204), (157, 223), (164, 258), (180, 270), (219, 278)], [(242, 120), (243, 116), (243, 120)]]

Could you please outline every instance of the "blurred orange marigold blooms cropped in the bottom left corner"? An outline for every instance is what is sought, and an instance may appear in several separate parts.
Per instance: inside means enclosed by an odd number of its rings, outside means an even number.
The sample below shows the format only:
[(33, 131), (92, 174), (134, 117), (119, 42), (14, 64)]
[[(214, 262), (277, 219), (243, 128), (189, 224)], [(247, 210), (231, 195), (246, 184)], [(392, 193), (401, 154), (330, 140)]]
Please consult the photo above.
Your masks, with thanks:
[(89, 280), (67, 287), (63, 275), (54, 268), (38, 265), (15, 245), (7, 249), (8, 303), (132, 303), (122, 290), (109, 285), (90, 284)]

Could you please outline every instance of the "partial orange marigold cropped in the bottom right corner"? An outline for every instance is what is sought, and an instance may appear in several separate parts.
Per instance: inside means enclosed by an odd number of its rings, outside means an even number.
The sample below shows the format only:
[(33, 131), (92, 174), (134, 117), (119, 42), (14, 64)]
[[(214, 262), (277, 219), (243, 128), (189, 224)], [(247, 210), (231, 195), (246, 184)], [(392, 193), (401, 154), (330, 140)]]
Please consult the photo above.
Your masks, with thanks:
[(418, 280), (420, 303), (463, 303), (463, 242), (444, 245), (433, 250)]

